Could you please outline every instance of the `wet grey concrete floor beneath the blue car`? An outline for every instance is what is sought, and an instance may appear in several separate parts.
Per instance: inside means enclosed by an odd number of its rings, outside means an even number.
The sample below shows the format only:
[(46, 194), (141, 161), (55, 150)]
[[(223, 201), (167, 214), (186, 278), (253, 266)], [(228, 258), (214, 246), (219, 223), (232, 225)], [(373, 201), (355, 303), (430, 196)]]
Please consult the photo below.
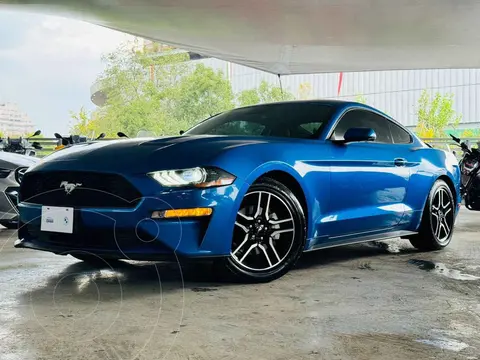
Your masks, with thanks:
[(95, 270), (0, 230), (0, 359), (480, 359), (479, 219), (462, 209), (444, 251), (324, 250), (263, 285), (205, 265)]

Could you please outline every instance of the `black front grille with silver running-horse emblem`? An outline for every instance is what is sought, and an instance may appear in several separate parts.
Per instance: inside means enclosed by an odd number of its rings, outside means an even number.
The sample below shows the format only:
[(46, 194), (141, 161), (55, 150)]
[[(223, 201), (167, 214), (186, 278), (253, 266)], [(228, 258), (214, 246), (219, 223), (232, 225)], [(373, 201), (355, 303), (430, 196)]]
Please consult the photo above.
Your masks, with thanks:
[[(81, 184), (67, 194), (63, 182)], [(20, 201), (75, 208), (132, 208), (141, 200), (140, 192), (116, 174), (83, 171), (26, 173), (20, 187)]]

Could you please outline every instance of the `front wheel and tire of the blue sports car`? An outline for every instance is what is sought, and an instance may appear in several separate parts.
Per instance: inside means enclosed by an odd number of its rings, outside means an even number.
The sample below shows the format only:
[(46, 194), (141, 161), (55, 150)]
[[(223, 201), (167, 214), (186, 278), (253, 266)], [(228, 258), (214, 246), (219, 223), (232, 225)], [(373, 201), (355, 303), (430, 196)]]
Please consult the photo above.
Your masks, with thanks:
[(241, 281), (258, 283), (277, 279), (302, 254), (305, 224), (303, 208), (293, 192), (276, 180), (262, 178), (242, 200), (232, 250), (222, 264)]

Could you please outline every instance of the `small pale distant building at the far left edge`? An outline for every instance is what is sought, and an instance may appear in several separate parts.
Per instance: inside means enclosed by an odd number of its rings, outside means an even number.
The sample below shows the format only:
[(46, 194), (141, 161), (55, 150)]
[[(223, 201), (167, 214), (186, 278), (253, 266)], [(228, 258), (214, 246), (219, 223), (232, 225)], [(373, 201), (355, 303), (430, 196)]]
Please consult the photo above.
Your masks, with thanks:
[(0, 103), (0, 132), (4, 136), (22, 136), (35, 131), (30, 117), (15, 103)]

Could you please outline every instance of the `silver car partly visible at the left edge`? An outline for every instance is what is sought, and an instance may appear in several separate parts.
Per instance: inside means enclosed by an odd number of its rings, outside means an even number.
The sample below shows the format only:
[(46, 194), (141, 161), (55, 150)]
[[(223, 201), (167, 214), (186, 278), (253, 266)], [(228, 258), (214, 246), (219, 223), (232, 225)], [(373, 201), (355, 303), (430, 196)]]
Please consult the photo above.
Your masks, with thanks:
[(39, 159), (0, 151), (0, 225), (16, 229), (18, 224), (18, 172), (38, 163)]

